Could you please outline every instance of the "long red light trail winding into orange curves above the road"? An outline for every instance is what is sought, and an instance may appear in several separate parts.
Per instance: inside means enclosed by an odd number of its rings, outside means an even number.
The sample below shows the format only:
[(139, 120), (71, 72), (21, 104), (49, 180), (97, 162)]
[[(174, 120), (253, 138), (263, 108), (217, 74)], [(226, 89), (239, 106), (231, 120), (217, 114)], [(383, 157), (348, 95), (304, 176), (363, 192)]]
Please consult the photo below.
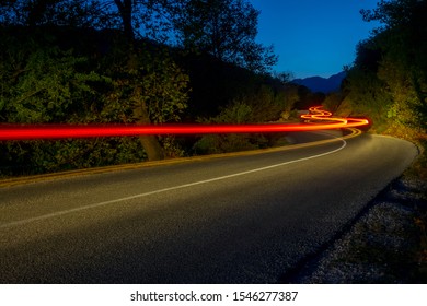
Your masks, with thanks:
[[(270, 133), (356, 128), (369, 125), (367, 119), (334, 118), (321, 106), (311, 107), (301, 118), (310, 123), (257, 125), (0, 125), (0, 141), (128, 137), (149, 134)], [(320, 121), (323, 121), (320, 123)]]

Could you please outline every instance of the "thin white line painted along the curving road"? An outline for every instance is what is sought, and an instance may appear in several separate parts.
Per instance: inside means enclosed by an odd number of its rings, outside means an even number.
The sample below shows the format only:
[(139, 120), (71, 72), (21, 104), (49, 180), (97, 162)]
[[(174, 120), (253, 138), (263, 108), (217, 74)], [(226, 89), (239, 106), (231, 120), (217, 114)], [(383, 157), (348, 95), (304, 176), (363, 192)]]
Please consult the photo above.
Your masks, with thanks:
[[(336, 137), (334, 137), (334, 138), (336, 138)], [(253, 174), (253, 173), (257, 173), (257, 172), (263, 172), (263, 170), (267, 170), (267, 169), (272, 169), (272, 168), (281, 167), (281, 166), (293, 164), (293, 163), (299, 163), (299, 162), (303, 162), (303, 161), (308, 161), (308, 160), (322, 157), (322, 156), (325, 156), (325, 155), (330, 155), (330, 154), (336, 153), (336, 152), (343, 150), (347, 145), (347, 142), (344, 139), (342, 139), (342, 138), (336, 138), (336, 139), (342, 141), (343, 145), (339, 146), (338, 149), (335, 149), (335, 150), (332, 150), (332, 151), (328, 151), (328, 152), (325, 152), (325, 153), (322, 153), (322, 154), (316, 154), (316, 155), (312, 155), (312, 156), (308, 156), (308, 157), (303, 157), (303, 158), (298, 158), (298, 160), (295, 160), (295, 161), (284, 162), (284, 163), (279, 163), (279, 164), (275, 164), (275, 165), (270, 165), (270, 166), (266, 166), (266, 167), (255, 168), (255, 169), (252, 169), (252, 170), (246, 170), (246, 172), (241, 172), (241, 173), (219, 176), (219, 177), (215, 177), (215, 178), (210, 178), (210, 179), (205, 179), (205, 180), (194, 181), (194, 183), (184, 184), (184, 185), (180, 185), (180, 186), (163, 188), (163, 189), (159, 189), (159, 190), (154, 190), (154, 191), (143, 192), (143, 193), (139, 193), (139, 195), (135, 195), (135, 196), (130, 196), (130, 197), (125, 197), (125, 198), (119, 198), (119, 199), (115, 199), (115, 200), (97, 202), (97, 203), (93, 203), (93, 204), (89, 204), (89, 205), (84, 205), (84, 207), (80, 207), (80, 208), (62, 210), (62, 211), (48, 213), (48, 214), (34, 216), (34, 217), (28, 217), (28, 219), (24, 219), (24, 220), (20, 220), (20, 221), (13, 221), (13, 222), (1, 224), (0, 228), (7, 228), (7, 227), (12, 227), (12, 226), (25, 225), (27, 223), (35, 222), (35, 221), (42, 221), (42, 220), (46, 220), (46, 219), (57, 217), (57, 216), (61, 216), (61, 215), (65, 215), (65, 214), (70, 214), (70, 213), (73, 213), (73, 212), (80, 212), (80, 211), (83, 211), (83, 210), (94, 209), (94, 208), (99, 208), (99, 207), (114, 204), (114, 203), (117, 203), (117, 202), (134, 200), (134, 199), (138, 199), (138, 198), (148, 197), (148, 196), (151, 196), (151, 195), (157, 195), (157, 193), (168, 192), (168, 191), (172, 191), (172, 190), (188, 188), (188, 187), (193, 187), (193, 186), (197, 186), (197, 185), (203, 185), (203, 184), (207, 184), (207, 183), (223, 180), (223, 179), (228, 179), (228, 178), (232, 178), (232, 177), (243, 176), (243, 175), (247, 175), (247, 174)]]

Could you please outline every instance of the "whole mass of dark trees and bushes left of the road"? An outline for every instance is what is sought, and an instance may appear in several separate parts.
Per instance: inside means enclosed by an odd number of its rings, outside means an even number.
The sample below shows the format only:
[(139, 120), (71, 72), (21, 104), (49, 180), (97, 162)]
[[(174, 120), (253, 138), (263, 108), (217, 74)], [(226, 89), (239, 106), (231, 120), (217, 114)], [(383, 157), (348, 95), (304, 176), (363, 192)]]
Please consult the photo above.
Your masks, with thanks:
[[(1, 123), (264, 122), (298, 86), (255, 42), (245, 0), (16, 0), (0, 3)], [(303, 96), (301, 94), (301, 96)], [(265, 136), (0, 143), (0, 177), (229, 152)]]

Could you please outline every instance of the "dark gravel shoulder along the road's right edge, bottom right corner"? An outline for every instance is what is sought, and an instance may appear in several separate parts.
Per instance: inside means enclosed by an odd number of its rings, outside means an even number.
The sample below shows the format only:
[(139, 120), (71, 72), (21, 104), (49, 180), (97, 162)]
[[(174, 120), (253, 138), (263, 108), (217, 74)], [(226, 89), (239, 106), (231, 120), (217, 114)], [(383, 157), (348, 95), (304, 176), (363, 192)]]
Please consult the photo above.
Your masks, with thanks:
[(289, 283), (427, 283), (427, 183), (402, 176)]

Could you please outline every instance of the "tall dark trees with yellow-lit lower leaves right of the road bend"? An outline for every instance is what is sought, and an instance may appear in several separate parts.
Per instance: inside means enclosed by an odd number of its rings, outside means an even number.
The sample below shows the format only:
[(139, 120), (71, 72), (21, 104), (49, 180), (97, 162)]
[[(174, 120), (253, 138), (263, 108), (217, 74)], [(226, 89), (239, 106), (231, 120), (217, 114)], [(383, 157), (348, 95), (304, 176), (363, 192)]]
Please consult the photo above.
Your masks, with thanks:
[(427, 2), (416, 0), (380, 1), (377, 9), (361, 11), (366, 21), (383, 26), (357, 47), (342, 113), (346, 107), (351, 114), (369, 114), (374, 129), (404, 138), (425, 133), (426, 13)]

